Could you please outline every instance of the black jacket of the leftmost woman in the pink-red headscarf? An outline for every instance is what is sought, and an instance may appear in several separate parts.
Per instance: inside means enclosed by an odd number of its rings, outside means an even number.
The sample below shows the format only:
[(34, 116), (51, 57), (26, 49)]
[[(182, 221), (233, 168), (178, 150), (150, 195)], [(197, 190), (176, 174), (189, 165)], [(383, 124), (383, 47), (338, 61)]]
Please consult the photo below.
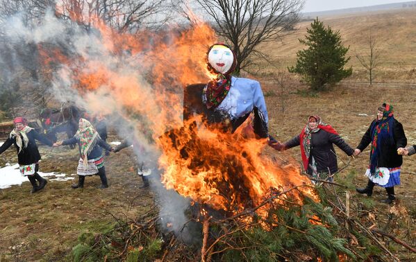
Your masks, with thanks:
[[(46, 137), (36, 132), (36, 130), (31, 130), (27, 132), (26, 135), (28, 137), (28, 146), (26, 148), (22, 148), (22, 150), (19, 152), (19, 146), (17, 146), (16, 137), (8, 137), (8, 139), (0, 147), (0, 154), (12, 146), (14, 143), (17, 150), (17, 159), (19, 161), (19, 165), (30, 165), (38, 163), (41, 157), (39, 154), (38, 145), (36, 145), (35, 140), (38, 140), (48, 146), (52, 146), (53, 143)], [(24, 143), (23, 138), (22, 143)]]

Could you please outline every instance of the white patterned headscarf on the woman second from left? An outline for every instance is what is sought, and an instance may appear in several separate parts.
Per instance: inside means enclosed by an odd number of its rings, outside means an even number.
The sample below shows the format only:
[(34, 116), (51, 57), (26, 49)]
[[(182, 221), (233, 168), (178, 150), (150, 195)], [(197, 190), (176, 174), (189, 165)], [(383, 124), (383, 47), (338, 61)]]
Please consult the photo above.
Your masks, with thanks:
[(79, 119), (75, 137), (80, 141), (81, 156), (86, 165), (88, 162), (88, 154), (90, 154), (100, 136), (90, 121), (87, 119)]

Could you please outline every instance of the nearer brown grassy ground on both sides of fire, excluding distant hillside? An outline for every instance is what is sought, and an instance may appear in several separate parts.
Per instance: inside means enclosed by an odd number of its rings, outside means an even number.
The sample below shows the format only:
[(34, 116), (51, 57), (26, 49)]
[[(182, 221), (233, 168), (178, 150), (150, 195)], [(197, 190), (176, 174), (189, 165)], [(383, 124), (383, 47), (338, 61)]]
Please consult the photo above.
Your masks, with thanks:
[[(270, 133), (280, 141), (286, 141), (298, 134), (306, 124), (310, 114), (318, 114), (322, 119), (338, 130), (344, 139), (355, 147), (374, 119), (376, 108), (381, 103), (394, 105), (396, 118), (403, 123), (408, 144), (416, 143), (416, 115), (412, 105), (416, 99), (416, 87), (384, 87), (367, 85), (340, 85), (333, 91), (324, 92), (319, 96), (306, 94), (304, 87), (293, 87), (285, 97), (285, 112), (282, 112), (282, 99), (274, 91), (274, 82), (260, 80), (266, 95), (269, 110)], [(301, 91), (298, 91), (297, 89)], [(111, 135), (108, 141), (120, 141)], [(339, 149), (339, 166), (348, 161)], [(78, 163), (78, 150), (67, 147), (40, 147), (43, 172), (74, 174)], [(300, 161), (299, 148), (286, 152), (272, 154), (290, 157)], [(106, 171), (110, 187), (97, 189), (99, 177), (87, 177), (84, 189), (71, 189), (74, 182), (51, 181), (46, 189), (31, 194), (31, 185), (24, 182), (22, 186), (12, 186), (0, 190), (0, 261), (70, 261), (70, 252), (81, 232), (100, 232), (110, 227), (120, 218), (133, 218), (143, 213), (153, 204), (151, 190), (138, 189), (142, 183), (140, 177), (133, 171), (131, 148), (126, 148), (117, 154), (106, 157)], [(15, 148), (10, 148), (0, 158), (0, 166), (6, 161), (16, 163)], [(349, 186), (353, 203), (372, 203), (372, 211), (376, 216), (374, 223), (383, 221), (385, 225), (388, 210), (392, 206), (382, 204), (379, 200), (385, 198), (385, 191), (376, 188), (371, 199), (358, 195), (355, 186), (365, 186), (363, 176), (369, 157), (368, 148), (359, 157), (335, 177), (335, 181)], [(416, 220), (416, 162), (414, 157), (405, 157), (402, 166), (400, 186), (396, 187), (397, 205), (406, 209), (405, 215), (396, 219), (392, 232), (401, 236), (410, 232), (411, 239), (415, 236)], [(74, 175), (75, 176), (75, 175)], [(380, 213), (381, 212), (381, 213)], [(406, 222), (403, 222), (406, 221)], [(390, 232), (390, 233), (392, 233)], [(415, 245), (415, 243), (413, 243)], [(403, 252), (396, 248), (400, 256), (407, 260), (416, 259), (414, 254)], [(410, 259), (410, 260), (409, 260)]]

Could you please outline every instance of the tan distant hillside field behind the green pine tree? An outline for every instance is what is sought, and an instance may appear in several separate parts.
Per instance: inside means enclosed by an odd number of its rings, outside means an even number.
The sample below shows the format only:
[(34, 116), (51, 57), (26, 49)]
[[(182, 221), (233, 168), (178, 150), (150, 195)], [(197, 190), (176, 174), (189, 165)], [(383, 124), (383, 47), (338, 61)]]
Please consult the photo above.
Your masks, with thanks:
[[(368, 12), (356, 15), (319, 17), (326, 26), (340, 30), (342, 42), (350, 46), (349, 65), (353, 67), (350, 80), (366, 80), (364, 67), (356, 58), (356, 53), (369, 52), (368, 36), (372, 32), (377, 48), (381, 50), (380, 65), (376, 69), (376, 82), (411, 82), (416, 78), (416, 14), (410, 10)], [(270, 42), (261, 46), (261, 51), (277, 62), (278, 69), (286, 69), (296, 62), (297, 51), (305, 46), (299, 43), (304, 38), (306, 28), (312, 21), (298, 24), (297, 30), (283, 37), (281, 42)], [(260, 62), (262, 63), (262, 62)], [(269, 67), (265, 62), (261, 67)], [(276, 69), (265, 69), (263, 73)]]

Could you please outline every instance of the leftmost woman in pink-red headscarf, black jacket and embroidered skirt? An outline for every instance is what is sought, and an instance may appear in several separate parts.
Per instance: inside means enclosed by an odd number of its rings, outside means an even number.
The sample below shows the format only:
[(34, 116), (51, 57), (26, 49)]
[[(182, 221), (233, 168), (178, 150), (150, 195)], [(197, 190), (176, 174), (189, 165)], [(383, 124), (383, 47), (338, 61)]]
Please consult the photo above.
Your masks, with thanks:
[[(16, 117), (13, 123), (15, 124), (15, 129), (10, 132), (8, 139), (0, 147), (0, 154), (13, 145), (13, 143), (15, 144), (20, 173), (28, 177), (32, 184), (31, 193), (35, 193), (43, 189), (47, 184), (47, 180), (38, 174), (40, 154), (35, 140), (48, 146), (52, 146), (52, 142), (38, 134), (33, 128), (28, 127), (27, 121), (23, 117)], [(38, 180), (39, 184), (36, 180)]]

